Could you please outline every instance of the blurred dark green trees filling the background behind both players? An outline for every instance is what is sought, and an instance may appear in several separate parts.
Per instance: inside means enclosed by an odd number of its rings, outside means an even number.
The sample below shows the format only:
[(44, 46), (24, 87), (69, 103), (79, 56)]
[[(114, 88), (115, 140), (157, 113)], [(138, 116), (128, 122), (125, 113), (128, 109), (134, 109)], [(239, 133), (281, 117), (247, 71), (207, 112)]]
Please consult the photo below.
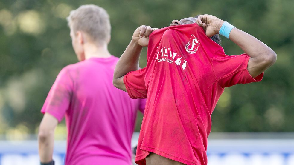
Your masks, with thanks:
[[(37, 132), (40, 109), (57, 74), (77, 62), (65, 18), (82, 4), (107, 10), (112, 24), (109, 51), (118, 57), (140, 25), (162, 28), (197, 14), (217, 16), (255, 36), (277, 53), (277, 62), (260, 83), (225, 90), (212, 115), (212, 132), (294, 131), (293, 0), (2, 0), (0, 134), (7, 139), (26, 139)], [(226, 54), (243, 53), (222, 39)], [(146, 66), (146, 49), (140, 65)], [(136, 131), (141, 120), (138, 114)], [(65, 137), (64, 121), (57, 132)]]

